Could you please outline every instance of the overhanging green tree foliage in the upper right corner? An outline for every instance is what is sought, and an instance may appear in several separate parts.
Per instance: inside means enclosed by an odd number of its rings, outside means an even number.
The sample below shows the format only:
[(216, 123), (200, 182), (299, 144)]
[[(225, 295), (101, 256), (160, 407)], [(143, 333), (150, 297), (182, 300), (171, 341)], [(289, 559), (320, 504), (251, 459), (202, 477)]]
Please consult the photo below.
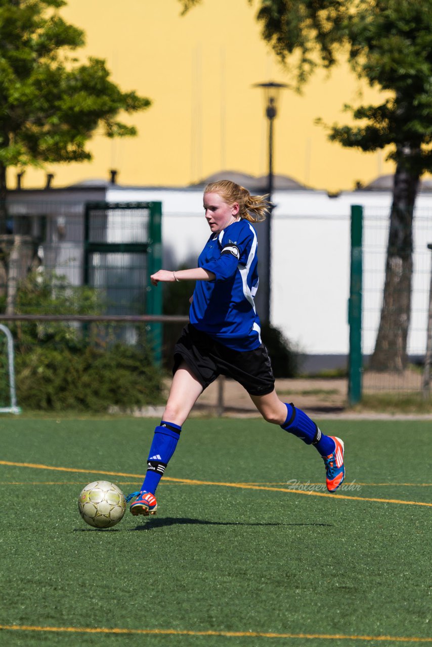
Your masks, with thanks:
[(359, 126), (329, 128), (342, 146), (375, 151), (422, 175), (432, 170), (432, 1), (261, 0), (262, 34), (283, 60), (299, 52), (299, 81), (348, 55), (352, 69), (387, 93), (379, 105), (346, 106)]

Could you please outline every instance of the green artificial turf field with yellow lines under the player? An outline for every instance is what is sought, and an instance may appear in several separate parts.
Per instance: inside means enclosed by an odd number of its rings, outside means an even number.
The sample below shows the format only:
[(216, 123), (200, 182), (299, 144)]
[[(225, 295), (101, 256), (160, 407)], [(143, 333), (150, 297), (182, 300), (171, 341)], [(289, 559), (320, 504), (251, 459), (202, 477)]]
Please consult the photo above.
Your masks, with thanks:
[(157, 516), (85, 525), (86, 483), (141, 486), (154, 424), (0, 419), (1, 646), (432, 642), (431, 422), (323, 422), (346, 449), (329, 495), (279, 428), (192, 419)]

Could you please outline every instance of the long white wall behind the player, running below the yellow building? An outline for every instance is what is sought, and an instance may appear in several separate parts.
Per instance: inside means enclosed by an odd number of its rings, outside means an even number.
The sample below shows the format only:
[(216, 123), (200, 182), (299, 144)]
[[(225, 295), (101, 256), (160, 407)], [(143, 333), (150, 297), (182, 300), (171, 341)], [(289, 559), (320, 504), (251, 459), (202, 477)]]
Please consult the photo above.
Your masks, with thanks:
[[(209, 236), (201, 190), (112, 188), (108, 201), (161, 201), (164, 263), (192, 263)], [(389, 192), (275, 192), (272, 225), (271, 322), (305, 353), (348, 352), (350, 207), (364, 206), (363, 352), (371, 353), (379, 323), (387, 248)], [(415, 278), (409, 353), (426, 348), (432, 243), (432, 195), (416, 206)], [(257, 225), (259, 226), (259, 225)]]

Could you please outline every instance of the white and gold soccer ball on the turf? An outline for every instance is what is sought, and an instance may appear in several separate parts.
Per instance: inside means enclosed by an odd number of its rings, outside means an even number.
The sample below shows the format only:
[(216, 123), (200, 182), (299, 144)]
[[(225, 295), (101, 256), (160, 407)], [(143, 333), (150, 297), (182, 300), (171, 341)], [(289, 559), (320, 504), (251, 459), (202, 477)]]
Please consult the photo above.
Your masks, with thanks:
[(123, 518), (126, 499), (114, 483), (93, 481), (81, 491), (78, 510), (85, 523), (94, 528), (112, 528)]

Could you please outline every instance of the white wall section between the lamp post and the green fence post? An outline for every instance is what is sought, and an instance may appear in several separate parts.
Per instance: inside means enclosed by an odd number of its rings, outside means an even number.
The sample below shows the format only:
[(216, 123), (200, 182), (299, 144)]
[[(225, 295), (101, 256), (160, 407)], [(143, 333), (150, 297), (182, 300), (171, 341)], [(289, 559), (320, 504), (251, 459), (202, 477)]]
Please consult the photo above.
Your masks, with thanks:
[(350, 219), (325, 193), (279, 192), (271, 322), (305, 353), (346, 353)]

